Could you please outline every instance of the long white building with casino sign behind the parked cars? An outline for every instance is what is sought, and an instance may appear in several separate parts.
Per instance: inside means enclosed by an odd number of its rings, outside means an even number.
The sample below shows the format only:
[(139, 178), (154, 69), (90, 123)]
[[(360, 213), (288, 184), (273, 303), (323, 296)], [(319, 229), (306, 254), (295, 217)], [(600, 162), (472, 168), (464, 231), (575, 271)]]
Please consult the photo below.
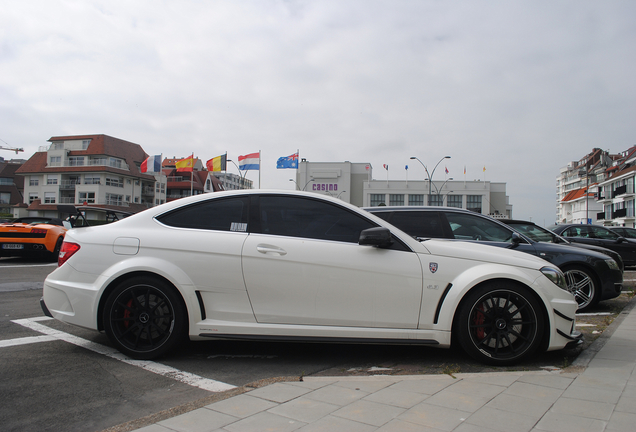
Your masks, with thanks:
[(308, 162), (298, 164), (300, 190), (330, 195), (359, 207), (448, 206), (512, 218), (506, 183), (490, 181), (374, 180), (370, 163)]

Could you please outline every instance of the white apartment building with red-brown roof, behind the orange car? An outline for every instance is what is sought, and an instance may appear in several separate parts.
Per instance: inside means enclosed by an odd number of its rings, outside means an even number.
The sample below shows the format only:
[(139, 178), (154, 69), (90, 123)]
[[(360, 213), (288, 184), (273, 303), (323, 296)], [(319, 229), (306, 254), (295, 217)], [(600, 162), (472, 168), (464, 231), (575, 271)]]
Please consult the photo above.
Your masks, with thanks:
[(139, 144), (108, 135), (55, 136), (16, 174), (24, 177), (25, 206), (14, 217), (59, 217), (58, 204), (136, 213), (166, 201), (163, 173), (142, 173)]

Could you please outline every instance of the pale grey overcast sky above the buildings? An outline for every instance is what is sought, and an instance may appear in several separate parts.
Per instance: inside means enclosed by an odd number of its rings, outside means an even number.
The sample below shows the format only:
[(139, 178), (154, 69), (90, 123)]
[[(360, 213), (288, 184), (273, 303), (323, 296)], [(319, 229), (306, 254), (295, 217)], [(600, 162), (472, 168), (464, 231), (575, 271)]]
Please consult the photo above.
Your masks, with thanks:
[[(106, 134), (204, 161), (369, 162), (507, 183), (551, 224), (559, 168), (636, 144), (636, 1), (0, 0), (0, 145)], [(1, 151), (5, 159), (15, 157)], [(413, 163), (415, 162), (415, 164)], [(483, 168), (486, 167), (486, 172)], [(237, 172), (229, 164), (229, 172)], [(258, 172), (248, 178), (258, 185)]]

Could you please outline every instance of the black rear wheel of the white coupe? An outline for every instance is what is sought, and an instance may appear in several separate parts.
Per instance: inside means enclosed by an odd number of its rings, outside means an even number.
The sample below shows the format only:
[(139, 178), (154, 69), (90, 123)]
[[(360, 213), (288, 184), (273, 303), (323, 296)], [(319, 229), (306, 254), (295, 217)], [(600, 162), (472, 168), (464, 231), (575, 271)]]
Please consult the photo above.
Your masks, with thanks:
[(157, 278), (136, 276), (119, 284), (108, 295), (102, 316), (110, 341), (138, 360), (167, 353), (187, 334), (187, 312), (180, 295)]

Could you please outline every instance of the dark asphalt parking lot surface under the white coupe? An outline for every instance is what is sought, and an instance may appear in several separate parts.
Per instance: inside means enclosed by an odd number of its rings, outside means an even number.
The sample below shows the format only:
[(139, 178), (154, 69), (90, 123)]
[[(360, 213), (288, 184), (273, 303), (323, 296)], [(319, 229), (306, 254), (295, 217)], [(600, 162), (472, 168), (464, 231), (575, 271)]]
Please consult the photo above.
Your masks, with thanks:
[[(0, 260), (0, 424), (3, 430), (103, 430), (211, 395), (280, 377), (453, 374), (566, 368), (633, 297), (580, 315), (586, 343), (491, 368), (456, 350), (266, 342), (185, 343), (157, 362), (128, 361), (105, 335), (45, 319), (41, 283), (55, 265)], [(231, 391), (231, 390), (230, 390)]]

